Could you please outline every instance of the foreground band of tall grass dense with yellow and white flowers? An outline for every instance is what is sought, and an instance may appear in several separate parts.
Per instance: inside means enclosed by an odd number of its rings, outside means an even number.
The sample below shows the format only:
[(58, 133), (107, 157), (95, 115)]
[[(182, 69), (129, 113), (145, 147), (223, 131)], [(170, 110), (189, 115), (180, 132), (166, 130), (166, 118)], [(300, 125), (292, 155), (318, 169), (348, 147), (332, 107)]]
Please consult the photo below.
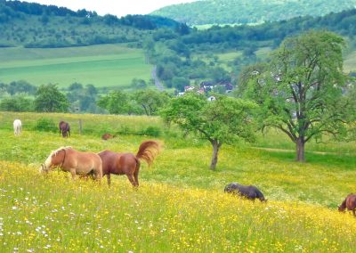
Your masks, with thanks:
[(111, 188), (0, 162), (4, 251), (352, 252), (356, 220), (300, 202), (124, 180)]

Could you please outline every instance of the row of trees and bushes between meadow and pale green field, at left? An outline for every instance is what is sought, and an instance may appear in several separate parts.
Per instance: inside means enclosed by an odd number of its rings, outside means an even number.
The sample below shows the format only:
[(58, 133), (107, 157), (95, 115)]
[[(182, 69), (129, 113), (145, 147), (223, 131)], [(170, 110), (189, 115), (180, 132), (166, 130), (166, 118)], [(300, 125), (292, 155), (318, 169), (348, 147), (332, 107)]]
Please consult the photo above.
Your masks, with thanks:
[(152, 116), (157, 115), (171, 98), (165, 92), (148, 89), (141, 79), (134, 79), (133, 86), (137, 88), (134, 92), (112, 90), (108, 94), (100, 94), (95, 86), (80, 83), (73, 83), (62, 90), (53, 84), (36, 87), (25, 81), (0, 84), (3, 94), (0, 110)]

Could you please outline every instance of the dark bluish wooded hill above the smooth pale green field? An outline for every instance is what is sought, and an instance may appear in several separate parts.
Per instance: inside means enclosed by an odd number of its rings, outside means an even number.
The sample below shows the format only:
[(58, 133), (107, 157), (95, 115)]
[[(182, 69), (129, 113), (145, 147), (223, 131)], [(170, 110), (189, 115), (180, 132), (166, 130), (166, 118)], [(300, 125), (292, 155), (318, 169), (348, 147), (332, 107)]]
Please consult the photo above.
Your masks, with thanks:
[(108, 43), (140, 43), (150, 30), (187, 29), (150, 15), (99, 16), (54, 5), (0, 0), (0, 46), (65, 47)]

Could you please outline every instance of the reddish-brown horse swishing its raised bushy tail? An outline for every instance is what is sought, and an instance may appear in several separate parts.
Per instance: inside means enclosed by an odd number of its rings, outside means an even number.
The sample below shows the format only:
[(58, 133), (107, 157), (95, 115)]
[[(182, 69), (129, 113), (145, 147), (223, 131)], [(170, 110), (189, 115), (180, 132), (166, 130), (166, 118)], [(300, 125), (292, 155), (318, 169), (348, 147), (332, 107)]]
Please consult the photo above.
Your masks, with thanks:
[(156, 158), (160, 145), (155, 141), (141, 143), (139, 151), (133, 153), (117, 153), (113, 151), (101, 151), (102, 175), (106, 175), (110, 185), (110, 174), (127, 175), (128, 180), (134, 186), (139, 186), (140, 159), (146, 161), (149, 166)]

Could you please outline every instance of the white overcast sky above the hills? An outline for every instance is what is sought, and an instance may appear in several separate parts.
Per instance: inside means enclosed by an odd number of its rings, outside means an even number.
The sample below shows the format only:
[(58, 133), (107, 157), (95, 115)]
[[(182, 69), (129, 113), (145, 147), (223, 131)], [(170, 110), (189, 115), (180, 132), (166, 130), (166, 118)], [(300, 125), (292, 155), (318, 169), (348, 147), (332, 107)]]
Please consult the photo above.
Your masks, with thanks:
[(127, 14), (148, 14), (163, 6), (194, 2), (196, 0), (26, 0), (38, 4), (53, 4), (77, 11), (85, 9), (100, 15), (114, 14), (118, 17)]

